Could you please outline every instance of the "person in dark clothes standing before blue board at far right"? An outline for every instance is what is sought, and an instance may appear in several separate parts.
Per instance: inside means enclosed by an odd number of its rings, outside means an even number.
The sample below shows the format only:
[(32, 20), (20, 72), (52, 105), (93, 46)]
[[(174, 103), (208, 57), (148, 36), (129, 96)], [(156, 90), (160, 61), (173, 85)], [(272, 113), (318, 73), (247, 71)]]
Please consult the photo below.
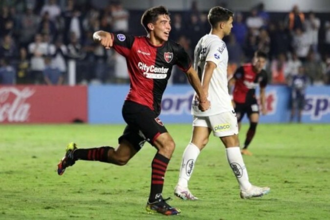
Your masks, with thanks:
[(305, 75), (305, 68), (299, 67), (298, 74), (291, 79), (291, 115), (290, 122), (293, 121), (296, 112), (298, 112), (298, 122), (301, 122), (302, 111), (305, 106), (305, 90), (307, 86), (307, 77)]

